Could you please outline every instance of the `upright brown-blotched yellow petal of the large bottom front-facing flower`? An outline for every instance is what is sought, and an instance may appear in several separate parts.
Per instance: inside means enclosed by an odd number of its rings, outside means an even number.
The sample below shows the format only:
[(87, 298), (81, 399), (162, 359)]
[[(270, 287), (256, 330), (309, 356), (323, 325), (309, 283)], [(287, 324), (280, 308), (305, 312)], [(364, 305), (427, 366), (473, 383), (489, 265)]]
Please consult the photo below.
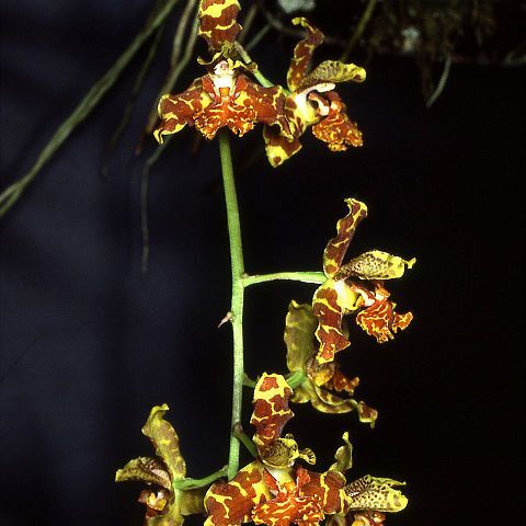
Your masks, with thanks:
[(250, 423), (255, 427), (256, 446), (267, 446), (282, 435), (283, 427), (294, 416), (288, 409), (293, 390), (282, 375), (263, 373), (254, 388), (254, 410)]

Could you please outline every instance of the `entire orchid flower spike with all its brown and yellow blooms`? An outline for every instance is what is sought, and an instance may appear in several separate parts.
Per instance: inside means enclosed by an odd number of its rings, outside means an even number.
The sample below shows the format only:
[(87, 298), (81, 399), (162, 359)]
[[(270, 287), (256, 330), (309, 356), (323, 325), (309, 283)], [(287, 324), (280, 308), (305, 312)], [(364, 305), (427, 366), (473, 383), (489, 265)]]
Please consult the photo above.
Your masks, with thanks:
[[(187, 90), (161, 98), (157, 140), (162, 142), (165, 135), (175, 134), (186, 125), (195, 126), (207, 139), (213, 139), (220, 128), (242, 136), (262, 123), (273, 167), (299, 151), (299, 138), (309, 127), (332, 151), (345, 150), (348, 145), (362, 146), (362, 134), (348, 118), (334, 88), (338, 82), (362, 82), (365, 70), (333, 60), (312, 69), (312, 55), (323, 34), (306, 19), (298, 18), (293, 23), (302, 26), (307, 35), (294, 49), (287, 87), (271, 84), (236, 41), (241, 30), (237, 22), (239, 11), (237, 0), (201, 1), (198, 34), (206, 41), (211, 59), (199, 60), (207, 72)], [(221, 148), (222, 139), (225, 135)], [(224, 153), (221, 149), (221, 159)], [(226, 157), (230, 157), (229, 150)], [(227, 196), (227, 205), (232, 203), (229, 198), (236, 199), (235, 192), (233, 197)], [(155, 447), (155, 456), (130, 460), (116, 473), (117, 481), (140, 480), (148, 485), (139, 495), (139, 502), (146, 505), (147, 526), (181, 526), (191, 514), (206, 516), (205, 526), (239, 526), (250, 522), (267, 526), (317, 526), (322, 521), (330, 526), (382, 526), (385, 513), (407, 506), (407, 498), (397, 489), (403, 482), (369, 474), (347, 481), (346, 472), (352, 467), (348, 433), (343, 434), (335, 462), (321, 471), (310, 468), (316, 464), (310, 448), (300, 448), (291, 434), (283, 435), (294, 416), (290, 402), (310, 402), (323, 413), (356, 411), (358, 420), (373, 427), (378, 412), (351, 398), (359, 378), (347, 377), (335, 362), (336, 353), (351, 345), (347, 318), (355, 316), (356, 324), (378, 343), (392, 340), (413, 319), (411, 312), (396, 311), (385, 282), (402, 277), (415, 259), (369, 250), (344, 262), (356, 228), (367, 216), (364, 203), (355, 198), (345, 203), (348, 211), (338, 221), (336, 236), (329, 240), (323, 252), (323, 272), (309, 273), (316, 274), (319, 284), (312, 302), (293, 300), (289, 305), (284, 335), (288, 374), (263, 373), (251, 384), (254, 391), (250, 423), (254, 434), (252, 438), (242, 432), (233, 436), (240, 436), (254, 460), (239, 469), (238, 451), (236, 464), (230, 459), (228, 467), (205, 479), (186, 478), (179, 436), (164, 420), (168, 405), (155, 407), (142, 427)], [(237, 211), (233, 217), (229, 210), (227, 206), (230, 227), (231, 222), (239, 222), (239, 217)], [(240, 236), (239, 228), (233, 231)], [(229, 235), (232, 242), (230, 228)], [(236, 242), (241, 247), (240, 239)], [(235, 255), (232, 262), (233, 259)], [(248, 286), (243, 276), (236, 277), (232, 273), (236, 294), (242, 295)], [(233, 320), (232, 324), (236, 322), (235, 312), (227, 318)], [(232, 422), (238, 425), (235, 419)], [(220, 479), (227, 473), (230, 480)]]

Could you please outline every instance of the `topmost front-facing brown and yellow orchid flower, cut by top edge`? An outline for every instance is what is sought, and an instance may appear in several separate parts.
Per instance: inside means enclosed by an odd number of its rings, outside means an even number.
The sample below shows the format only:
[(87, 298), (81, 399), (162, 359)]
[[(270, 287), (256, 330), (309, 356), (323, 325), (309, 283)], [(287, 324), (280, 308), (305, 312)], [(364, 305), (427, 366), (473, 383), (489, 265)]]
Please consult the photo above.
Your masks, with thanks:
[(198, 34), (214, 58), (207, 65), (207, 75), (195, 79), (185, 91), (161, 96), (161, 123), (153, 132), (160, 144), (165, 135), (176, 134), (186, 125), (195, 126), (207, 139), (225, 126), (242, 136), (255, 123), (277, 125), (289, 136), (283, 89), (264, 88), (252, 81), (242, 72), (250, 68), (232, 58), (236, 54), (231, 49), (241, 28), (236, 21), (239, 9), (237, 0), (202, 0)]

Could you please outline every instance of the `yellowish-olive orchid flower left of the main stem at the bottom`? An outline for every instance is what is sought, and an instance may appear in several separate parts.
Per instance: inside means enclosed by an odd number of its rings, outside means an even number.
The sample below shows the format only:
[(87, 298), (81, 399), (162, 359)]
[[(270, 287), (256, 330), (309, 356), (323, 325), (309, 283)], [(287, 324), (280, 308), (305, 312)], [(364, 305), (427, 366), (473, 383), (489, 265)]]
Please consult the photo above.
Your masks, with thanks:
[(203, 513), (203, 491), (176, 490), (173, 482), (184, 479), (186, 465), (179, 448), (179, 436), (164, 420), (168, 405), (156, 405), (148, 418), (142, 434), (156, 448), (156, 457), (130, 460), (115, 474), (117, 482), (142, 481), (156, 490), (144, 490), (139, 502), (146, 505), (146, 526), (181, 526), (186, 515)]

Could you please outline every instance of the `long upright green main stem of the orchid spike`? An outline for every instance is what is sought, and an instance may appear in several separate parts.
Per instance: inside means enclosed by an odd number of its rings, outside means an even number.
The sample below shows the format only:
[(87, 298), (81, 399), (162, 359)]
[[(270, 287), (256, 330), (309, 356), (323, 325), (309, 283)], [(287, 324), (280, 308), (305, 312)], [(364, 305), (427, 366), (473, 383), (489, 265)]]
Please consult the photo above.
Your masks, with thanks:
[[(227, 205), (228, 238), (230, 241), (230, 264), (232, 268), (232, 312), (233, 332), (233, 388), (231, 427), (241, 421), (241, 404), (243, 397), (243, 249), (241, 244), (241, 226), (239, 222), (238, 198), (233, 180), (232, 158), (228, 130), (219, 132), (219, 152), (221, 157), (222, 184)], [(232, 479), (239, 468), (239, 441), (230, 433), (230, 453), (228, 456), (228, 479)]]

